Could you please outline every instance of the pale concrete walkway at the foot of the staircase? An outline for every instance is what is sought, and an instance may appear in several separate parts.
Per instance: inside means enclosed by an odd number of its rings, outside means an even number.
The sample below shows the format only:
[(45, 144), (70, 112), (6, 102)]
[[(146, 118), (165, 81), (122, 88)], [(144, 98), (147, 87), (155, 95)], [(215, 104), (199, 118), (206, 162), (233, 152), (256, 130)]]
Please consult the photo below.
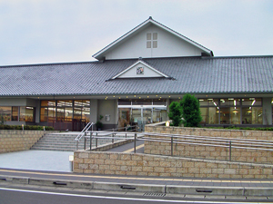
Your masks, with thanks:
[(70, 151), (17, 151), (0, 154), (0, 168), (70, 172)]

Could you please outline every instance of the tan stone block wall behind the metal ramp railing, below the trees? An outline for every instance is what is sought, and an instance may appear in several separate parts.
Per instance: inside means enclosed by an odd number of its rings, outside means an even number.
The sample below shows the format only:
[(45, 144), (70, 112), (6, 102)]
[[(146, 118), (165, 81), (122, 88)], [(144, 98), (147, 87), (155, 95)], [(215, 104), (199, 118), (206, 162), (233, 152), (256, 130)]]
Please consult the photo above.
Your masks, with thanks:
[[(147, 132), (159, 132), (181, 135), (197, 135), (219, 138), (248, 139), (248, 140), (273, 140), (273, 131), (233, 131), (214, 129), (194, 129), (162, 126), (146, 126)], [(155, 137), (155, 136), (151, 136)], [(160, 138), (160, 137), (158, 137)], [(161, 137), (162, 139), (162, 137)], [(164, 137), (163, 137), (164, 139)], [(168, 138), (169, 139), (169, 138)], [(192, 139), (191, 139), (192, 140)], [(187, 139), (183, 140), (187, 141)], [(174, 144), (173, 155), (180, 157), (207, 159), (207, 160), (229, 160), (229, 147), (212, 147), (194, 144)], [(159, 141), (145, 141), (145, 153), (171, 155), (171, 144)], [(273, 163), (273, 151), (258, 151), (247, 149), (231, 149), (231, 160), (249, 163)]]

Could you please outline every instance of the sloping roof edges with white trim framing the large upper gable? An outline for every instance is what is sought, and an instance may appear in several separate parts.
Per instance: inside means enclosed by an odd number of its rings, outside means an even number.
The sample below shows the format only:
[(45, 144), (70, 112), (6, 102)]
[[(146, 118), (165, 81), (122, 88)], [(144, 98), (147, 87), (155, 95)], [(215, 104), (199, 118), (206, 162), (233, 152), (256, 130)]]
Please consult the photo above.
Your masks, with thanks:
[(126, 41), (126, 39), (133, 35), (136, 34), (138, 32), (140, 32), (141, 30), (145, 29), (148, 25), (150, 24), (154, 24), (160, 28), (162, 28), (163, 30), (167, 31), (170, 34), (174, 34), (175, 36), (177, 36), (178, 38), (186, 41), (189, 44), (192, 44), (194, 46), (196, 46), (197, 48), (199, 48), (200, 50), (202, 50), (205, 55), (208, 56), (213, 56), (213, 52), (209, 49), (207, 49), (206, 47), (204, 47), (201, 44), (197, 44), (196, 42), (190, 40), (189, 38), (187, 38), (186, 36), (182, 35), (182, 34), (178, 34), (177, 32), (175, 32), (174, 30), (170, 29), (169, 27), (167, 27), (164, 24), (160, 24), (157, 21), (155, 21), (151, 16), (142, 24), (137, 25), (134, 29), (132, 29), (131, 31), (129, 31), (128, 33), (124, 34), (123, 36), (121, 36), (120, 38), (118, 38), (116, 41), (114, 41), (112, 44), (108, 44), (105, 48), (103, 48), (102, 50), (100, 50), (99, 52), (95, 53), (93, 55), (94, 58), (96, 58), (97, 60), (103, 60), (105, 53), (110, 50), (115, 48), (116, 46), (118, 46), (119, 44), (122, 44), (124, 41)]

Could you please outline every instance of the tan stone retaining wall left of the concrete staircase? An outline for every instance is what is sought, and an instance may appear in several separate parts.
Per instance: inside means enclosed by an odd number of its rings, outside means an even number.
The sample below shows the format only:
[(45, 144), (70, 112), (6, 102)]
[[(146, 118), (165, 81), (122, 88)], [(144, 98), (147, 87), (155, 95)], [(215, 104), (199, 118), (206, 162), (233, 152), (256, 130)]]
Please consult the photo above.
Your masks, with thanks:
[(45, 132), (56, 131), (0, 130), (0, 153), (29, 150)]

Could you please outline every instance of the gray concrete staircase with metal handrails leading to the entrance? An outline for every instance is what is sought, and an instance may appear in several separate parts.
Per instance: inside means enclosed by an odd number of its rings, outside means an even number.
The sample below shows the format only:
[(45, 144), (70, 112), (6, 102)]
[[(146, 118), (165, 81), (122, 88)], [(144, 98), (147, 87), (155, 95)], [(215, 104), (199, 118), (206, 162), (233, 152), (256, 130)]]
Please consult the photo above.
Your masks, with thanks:
[[(64, 133), (50, 133), (45, 134), (39, 141), (35, 143), (35, 145), (31, 148), (31, 150), (39, 150), (39, 151), (76, 151), (76, 136), (79, 132), (64, 132)], [(84, 149), (84, 141), (82, 140), (78, 144), (78, 150)], [(92, 147), (95, 147), (95, 140), (92, 141)], [(110, 143), (112, 140), (98, 140), (98, 146)], [(90, 145), (90, 140), (86, 140), (86, 149)]]

